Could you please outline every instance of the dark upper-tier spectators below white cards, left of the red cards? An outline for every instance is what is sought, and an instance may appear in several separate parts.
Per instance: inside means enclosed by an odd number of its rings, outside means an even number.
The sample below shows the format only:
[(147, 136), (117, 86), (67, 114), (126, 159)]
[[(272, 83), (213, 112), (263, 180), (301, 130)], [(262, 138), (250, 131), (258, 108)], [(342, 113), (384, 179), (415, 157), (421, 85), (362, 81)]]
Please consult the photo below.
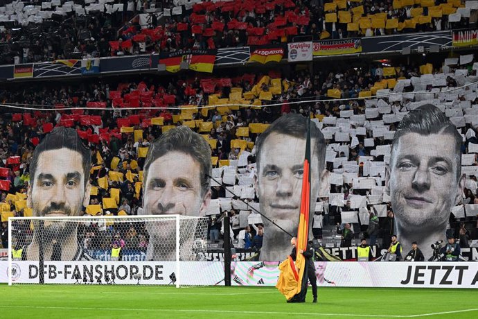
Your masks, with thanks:
[[(41, 7), (42, 2), (26, 5)], [(55, 11), (41, 22), (21, 21), (17, 11), (26, 14), (27, 10), (15, 10), (15, 20), (0, 19), (0, 64), (13, 64), (15, 57), (17, 63), (30, 63), (108, 56), (108, 42), (116, 39), (118, 28), (143, 10), (141, 1), (110, 1), (109, 5), (115, 3), (123, 4), (123, 11), (91, 10), (85, 15)], [(12, 1), (2, 1), (0, 7), (8, 4)], [(0, 10), (0, 16), (4, 14)]]

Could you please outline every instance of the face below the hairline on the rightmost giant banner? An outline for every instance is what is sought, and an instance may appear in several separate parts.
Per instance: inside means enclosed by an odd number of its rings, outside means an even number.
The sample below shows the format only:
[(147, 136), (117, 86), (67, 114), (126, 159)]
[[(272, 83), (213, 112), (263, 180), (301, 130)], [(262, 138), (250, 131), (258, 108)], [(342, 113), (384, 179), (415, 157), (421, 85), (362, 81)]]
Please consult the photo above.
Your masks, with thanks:
[(408, 132), (396, 144), (387, 185), (398, 227), (426, 232), (448, 223), (461, 196), (456, 141), (450, 134)]

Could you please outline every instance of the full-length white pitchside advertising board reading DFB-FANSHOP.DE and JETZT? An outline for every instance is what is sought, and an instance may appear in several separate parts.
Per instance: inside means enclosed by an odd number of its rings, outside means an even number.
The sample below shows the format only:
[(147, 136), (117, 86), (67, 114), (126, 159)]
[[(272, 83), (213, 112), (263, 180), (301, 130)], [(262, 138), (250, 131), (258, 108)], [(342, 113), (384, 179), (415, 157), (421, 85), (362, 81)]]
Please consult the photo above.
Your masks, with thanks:
[[(275, 286), (279, 261), (233, 262), (235, 286)], [(46, 284), (172, 284), (174, 261), (45, 261)], [(224, 279), (222, 261), (181, 261), (181, 284), (214, 285)], [(8, 261), (0, 261), (0, 282), (6, 277)], [(475, 262), (347, 262), (316, 261), (319, 286), (391, 288), (478, 288)], [(39, 265), (13, 261), (13, 282), (39, 283)]]

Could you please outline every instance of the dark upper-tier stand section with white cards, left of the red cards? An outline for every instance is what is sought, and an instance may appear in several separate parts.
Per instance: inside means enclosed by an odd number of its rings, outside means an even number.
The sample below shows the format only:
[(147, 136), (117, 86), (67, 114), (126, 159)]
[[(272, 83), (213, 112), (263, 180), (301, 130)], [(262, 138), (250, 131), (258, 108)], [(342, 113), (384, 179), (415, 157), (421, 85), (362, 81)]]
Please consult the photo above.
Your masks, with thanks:
[(107, 56), (137, 12), (141, 1), (1, 1), (0, 64)]

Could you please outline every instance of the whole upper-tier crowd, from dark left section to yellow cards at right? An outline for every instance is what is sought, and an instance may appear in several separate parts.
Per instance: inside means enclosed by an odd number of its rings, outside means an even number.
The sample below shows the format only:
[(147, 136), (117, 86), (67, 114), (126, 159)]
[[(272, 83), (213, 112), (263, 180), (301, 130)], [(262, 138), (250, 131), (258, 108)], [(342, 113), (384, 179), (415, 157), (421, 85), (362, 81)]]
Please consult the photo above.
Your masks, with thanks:
[[(476, 8), (460, 0), (163, 1), (161, 13), (150, 12), (149, 1), (115, 2), (123, 11), (55, 12), (41, 23), (17, 19), (0, 26), (0, 64), (16, 56), (27, 63), (440, 31), (477, 21)], [(131, 19), (137, 13), (150, 16)]]

